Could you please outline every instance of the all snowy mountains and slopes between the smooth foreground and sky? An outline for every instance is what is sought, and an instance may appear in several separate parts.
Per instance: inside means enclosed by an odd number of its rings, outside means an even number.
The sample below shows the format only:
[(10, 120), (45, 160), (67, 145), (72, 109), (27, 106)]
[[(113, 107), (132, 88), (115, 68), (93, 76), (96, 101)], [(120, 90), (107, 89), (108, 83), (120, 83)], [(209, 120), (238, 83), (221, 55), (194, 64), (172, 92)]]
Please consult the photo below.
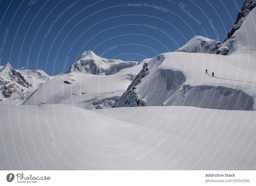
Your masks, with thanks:
[[(187, 105), (256, 110), (252, 88), (256, 81), (255, 6), (256, 0), (244, 2), (223, 43), (194, 36), (175, 52), (141, 62), (101, 58), (88, 50), (65, 74), (56, 76), (41, 70), (15, 70), (9, 63), (0, 66), (0, 103), (64, 103), (86, 109)], [(209, 74), (204, 74), (205, 69)], [(215, 78), (211, 78), (212, 71)]]

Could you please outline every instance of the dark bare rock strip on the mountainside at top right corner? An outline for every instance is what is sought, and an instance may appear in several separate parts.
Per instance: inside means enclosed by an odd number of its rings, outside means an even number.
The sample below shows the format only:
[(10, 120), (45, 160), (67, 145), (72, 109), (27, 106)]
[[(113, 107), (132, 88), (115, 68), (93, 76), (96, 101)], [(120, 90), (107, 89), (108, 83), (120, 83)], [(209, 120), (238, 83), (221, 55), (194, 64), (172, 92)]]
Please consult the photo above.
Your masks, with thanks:
[(236, 32), (237, 29), (241, 27), (244, 21), (244, 17), (246, 17), (250, 11), (252, 11), (253, 8), (256, 6), (256, 1), (255, 0), (245, 0), (243, 7), (240, 12), (238, 12), (236, 22), (233, 26), (233, 28), (228, 32), (228, 36), (224, 40), (226, 42), (228, 39), (232, 37), (232, 35)]

